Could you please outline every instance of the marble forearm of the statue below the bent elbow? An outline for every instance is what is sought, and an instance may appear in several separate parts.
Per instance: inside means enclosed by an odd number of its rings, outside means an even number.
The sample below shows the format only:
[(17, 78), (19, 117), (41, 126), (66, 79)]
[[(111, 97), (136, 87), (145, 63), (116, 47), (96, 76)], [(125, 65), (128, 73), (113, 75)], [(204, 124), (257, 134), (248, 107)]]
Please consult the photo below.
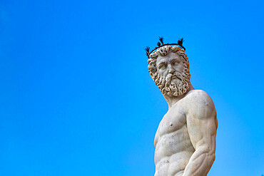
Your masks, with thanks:
[(208, 147), (198, 147), (191, 156), (182, 176), (205, 176), (215, 160), (214, 150)]

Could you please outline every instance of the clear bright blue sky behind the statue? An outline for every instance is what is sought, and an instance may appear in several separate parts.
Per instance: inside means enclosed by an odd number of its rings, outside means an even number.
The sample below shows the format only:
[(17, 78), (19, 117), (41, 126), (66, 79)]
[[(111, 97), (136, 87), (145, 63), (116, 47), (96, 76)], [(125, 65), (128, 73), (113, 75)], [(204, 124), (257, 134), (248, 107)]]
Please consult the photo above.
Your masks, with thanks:
[(208, 176), (264, 174), (263, 1), (0, 2), (0, 175), (153, 176), (168, 105), (143, 48), (183, 43), (218, 113)]

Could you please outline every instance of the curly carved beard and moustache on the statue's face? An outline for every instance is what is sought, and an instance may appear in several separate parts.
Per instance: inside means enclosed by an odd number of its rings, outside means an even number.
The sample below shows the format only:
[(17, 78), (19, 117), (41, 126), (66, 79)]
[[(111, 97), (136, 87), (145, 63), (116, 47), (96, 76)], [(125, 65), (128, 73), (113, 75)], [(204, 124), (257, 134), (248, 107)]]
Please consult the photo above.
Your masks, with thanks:
[(179, 96), (187, 92), (190, 79), (185, 73), (168, 73), (166, 78), (157, 76), (155, 83), (163, 95)]

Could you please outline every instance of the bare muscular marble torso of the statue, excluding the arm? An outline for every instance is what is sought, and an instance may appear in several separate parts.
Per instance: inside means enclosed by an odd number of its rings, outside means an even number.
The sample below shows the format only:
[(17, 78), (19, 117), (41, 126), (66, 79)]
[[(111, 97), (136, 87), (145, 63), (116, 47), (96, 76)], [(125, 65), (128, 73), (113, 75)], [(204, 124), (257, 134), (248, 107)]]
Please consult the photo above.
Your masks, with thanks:
[(158, 125), (154, 145), (155, 176), (180, 176), (195, 149), (188, 135), (184, 98), (173, 105)]

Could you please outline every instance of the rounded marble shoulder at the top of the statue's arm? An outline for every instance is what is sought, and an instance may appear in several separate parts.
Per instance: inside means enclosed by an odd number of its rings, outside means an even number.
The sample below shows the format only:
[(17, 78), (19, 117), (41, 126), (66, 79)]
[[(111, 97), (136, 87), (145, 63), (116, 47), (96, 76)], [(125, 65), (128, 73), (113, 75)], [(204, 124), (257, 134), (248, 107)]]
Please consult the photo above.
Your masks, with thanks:
[[(188, 109), (192, 113), (216, 113), (212, 98), (210, 98), (210, 95), (204, 90), (191, 90), (188, 95), (186, 95), (186, 100)], [(203, 114), (200, 115), (204, 116)]]

